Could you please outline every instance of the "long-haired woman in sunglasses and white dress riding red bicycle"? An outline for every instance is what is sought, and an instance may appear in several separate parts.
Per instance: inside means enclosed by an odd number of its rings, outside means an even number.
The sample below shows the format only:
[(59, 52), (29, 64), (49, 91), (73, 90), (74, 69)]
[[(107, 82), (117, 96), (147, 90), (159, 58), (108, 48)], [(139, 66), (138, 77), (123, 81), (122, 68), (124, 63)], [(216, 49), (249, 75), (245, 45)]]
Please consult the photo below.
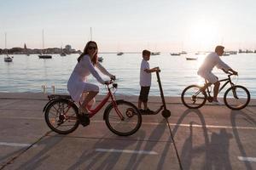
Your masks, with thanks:
[(82, 98), (82, 94), (87, 93), (83, 104), (79, 107), (80, 117), (83, 116), (83, 114), (88, 114), (86, 106), (89, 104), (90, 100), (94, 99), (96, 94), (99, 93), (99, 87), (96, 84), (87, 82), (87, 77), (92, 74), (98, 82), (102, 84), (109, 83), (109, 81), (102, 79), (95, 70), (95, 67), (109, 78), (115, 78), (98, 62), (97, 53), (98, 48), (96, 42), (87, 42), (84, 52), (79, 56), (78, 63), (67, 82), (67, 91), (74, 101), (79, 102)]

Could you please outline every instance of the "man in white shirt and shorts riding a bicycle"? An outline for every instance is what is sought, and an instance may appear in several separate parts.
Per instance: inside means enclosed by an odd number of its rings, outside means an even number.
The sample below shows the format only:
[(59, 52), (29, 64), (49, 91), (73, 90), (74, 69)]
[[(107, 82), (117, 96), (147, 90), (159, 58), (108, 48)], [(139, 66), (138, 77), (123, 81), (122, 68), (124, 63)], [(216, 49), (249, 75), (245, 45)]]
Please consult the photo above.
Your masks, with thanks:
[(214, 84), (213, 88), (213, 103), (219, 104), (217, 96), (218, 96), (218, 88), (220, 82), (218, 82), (218, 77), (212, 74), (212, 69), (214, 66), (217, 66), (218, 69), (222, 69), (224, 72), (231, 71), (233, 74), (237, 75), (236, 71), (233, 71), (229, 65), (225, 64), (219, 56), (224, 54), (224, 47), (217, 46), (215, 48), (215, 52), (208, 54), (206, 59), (204, 60), (203, 64), (197, 71), (197, 74), (201, 77), (207, 79), (208, 82)]

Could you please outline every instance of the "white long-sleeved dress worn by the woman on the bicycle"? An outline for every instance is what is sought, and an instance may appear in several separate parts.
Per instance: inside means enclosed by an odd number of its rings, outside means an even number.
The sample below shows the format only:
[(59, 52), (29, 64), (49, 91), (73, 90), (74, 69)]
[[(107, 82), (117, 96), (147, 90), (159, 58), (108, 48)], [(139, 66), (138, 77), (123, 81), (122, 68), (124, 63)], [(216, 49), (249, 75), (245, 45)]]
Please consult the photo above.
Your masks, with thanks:
[[(104, 75), (111, 77), (111, 74), (100, 63), (97, 63), (95, 66)], [(98, 86), (95, 84), (86, 82), (87, 77), (90, 74), (92, 74), (98, 82), (104, 84), (105, 81), (95, 70), (94, 65), (92, 65), (90, 61), (90, 56), (85, 54), (73, 69), (73, 72), (67, 82), (67, 91), (74, 101), (79, 102), (83, 92), (99, 90)]]

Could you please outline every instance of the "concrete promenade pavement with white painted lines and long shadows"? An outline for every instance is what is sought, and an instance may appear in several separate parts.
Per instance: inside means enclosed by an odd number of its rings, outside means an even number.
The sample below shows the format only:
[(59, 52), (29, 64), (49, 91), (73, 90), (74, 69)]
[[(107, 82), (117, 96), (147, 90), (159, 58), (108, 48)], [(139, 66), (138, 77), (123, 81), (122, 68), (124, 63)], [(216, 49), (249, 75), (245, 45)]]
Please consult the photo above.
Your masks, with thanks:
[[(137, 105), (137, 96), (117, 98)], [(47, 101), (46, 94), (0, 93), (0, 169), (256, 169), (256, 99), (231, 111), (225, 105), (190, 110), (166, 97), (174, 141), (161, 114), (143, 116), (137, 133), (119, 137), (105, 125), (104, 108), (90, 126), (57, 134), (44, 122)], [(160, 101), (150, 97), (149, 108)]]

